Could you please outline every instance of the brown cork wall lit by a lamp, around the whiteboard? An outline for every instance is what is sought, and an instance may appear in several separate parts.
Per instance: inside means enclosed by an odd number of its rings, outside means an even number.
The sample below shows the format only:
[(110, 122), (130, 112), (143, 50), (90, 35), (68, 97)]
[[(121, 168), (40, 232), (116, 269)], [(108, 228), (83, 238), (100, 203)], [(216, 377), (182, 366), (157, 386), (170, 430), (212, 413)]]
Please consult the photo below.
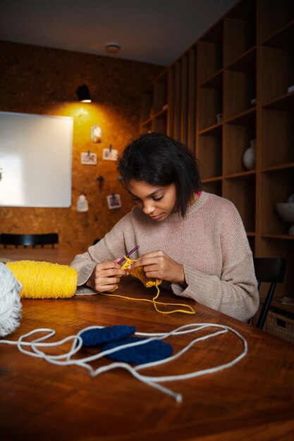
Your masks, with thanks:
[[(0, 42), (0, 65), (0, 111), (73, 117), (71, 207), (0, 207), (0, 232), (58, 232), (59, 246), (82, 251), (133, 206), (118, 179), (117, 162), (102, 159), (102, 151), (111, 145), (120, 154), (139, 135), (140, 94), (163, 68), (9, 42)], [(77, 100), (75, 90), (82, 84), (90, 89), (91, 104)], [(100, 143), (91, 142), (94, 124), (102, 128)], [(81, 163), (80, 154), (88, 151), (97, 154), (97, 165)], [(104, 180), (97, 180), (101, 176)], [(76, 210), (82, 192), (89, 202), (84, 213)], [(106, 196), (115, 193), (122, 206), (110, 210)]]

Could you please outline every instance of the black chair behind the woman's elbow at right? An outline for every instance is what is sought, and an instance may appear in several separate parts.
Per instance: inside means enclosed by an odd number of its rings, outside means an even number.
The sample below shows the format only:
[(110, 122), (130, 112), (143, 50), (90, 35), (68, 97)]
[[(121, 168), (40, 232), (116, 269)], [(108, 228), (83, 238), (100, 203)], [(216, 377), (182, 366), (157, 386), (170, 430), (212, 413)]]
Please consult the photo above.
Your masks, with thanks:
[(263, 329), (264, 323), (267, 319), (267, 313), (269, 312), (269, 307), (271, 306), (271, 299), (274, 296), (276, 284), (281, 283), (284, 280), (287, 261), (282, 257), (255, 257), (253, 260), (255, 264), (258, 290), (262, 282), (270, 283), (267, 296), (264, 299), (264, 304), (262, 305), (262, 310), (259, 313), (256, 324), (256, 328)]

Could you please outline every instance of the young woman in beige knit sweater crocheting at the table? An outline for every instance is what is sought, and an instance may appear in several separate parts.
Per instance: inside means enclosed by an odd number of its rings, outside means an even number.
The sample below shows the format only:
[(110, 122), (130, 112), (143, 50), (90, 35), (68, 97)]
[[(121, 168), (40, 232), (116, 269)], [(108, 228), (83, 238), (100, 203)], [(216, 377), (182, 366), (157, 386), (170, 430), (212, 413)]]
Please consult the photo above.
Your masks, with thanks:
[(119, 283), (118, 260), (137, 244), (133, 267), (189, 297), (242, 321), (257, 311), (252, 251), (235, 206), (201, 192), (195, 156), (160, 133), (141, 135), (118, 163), (135, 207), (71, 264), (78, 292), (107, 292)]

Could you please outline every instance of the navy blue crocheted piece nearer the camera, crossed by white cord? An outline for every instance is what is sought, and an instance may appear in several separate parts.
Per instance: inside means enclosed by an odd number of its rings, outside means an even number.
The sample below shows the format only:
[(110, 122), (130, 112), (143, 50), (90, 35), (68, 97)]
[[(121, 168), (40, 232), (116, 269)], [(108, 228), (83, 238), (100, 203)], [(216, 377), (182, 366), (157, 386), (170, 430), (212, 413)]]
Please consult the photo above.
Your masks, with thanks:
[[(112, 349), (121, 344), (133, 343), (139, 340), (146, 340), (145, 337), (128, 337), (119, 342), (111, 342), (102, 346), (102, 351)], [(145, 364), (151, 361), (158, 361), (166, 359), (173, 353), (171, 344), (161, 342), (161, 340), (152, 340), (151, 342), (140, 344), (134, 347), (119, 349), (112, 354), (106, 355), (109, 359), (115, 361), (123, 361), (129, 364)]]

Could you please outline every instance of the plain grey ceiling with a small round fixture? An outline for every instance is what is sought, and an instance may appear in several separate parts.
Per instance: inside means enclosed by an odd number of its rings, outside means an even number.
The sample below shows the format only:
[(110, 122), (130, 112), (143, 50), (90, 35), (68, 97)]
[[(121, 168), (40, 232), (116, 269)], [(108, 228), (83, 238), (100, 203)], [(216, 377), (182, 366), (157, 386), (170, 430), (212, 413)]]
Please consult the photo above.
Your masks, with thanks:
[[(0, 0), (0, 39), (169, 66), (236, 0)], [(106, 52), (121, 44), (118, 54)]]

